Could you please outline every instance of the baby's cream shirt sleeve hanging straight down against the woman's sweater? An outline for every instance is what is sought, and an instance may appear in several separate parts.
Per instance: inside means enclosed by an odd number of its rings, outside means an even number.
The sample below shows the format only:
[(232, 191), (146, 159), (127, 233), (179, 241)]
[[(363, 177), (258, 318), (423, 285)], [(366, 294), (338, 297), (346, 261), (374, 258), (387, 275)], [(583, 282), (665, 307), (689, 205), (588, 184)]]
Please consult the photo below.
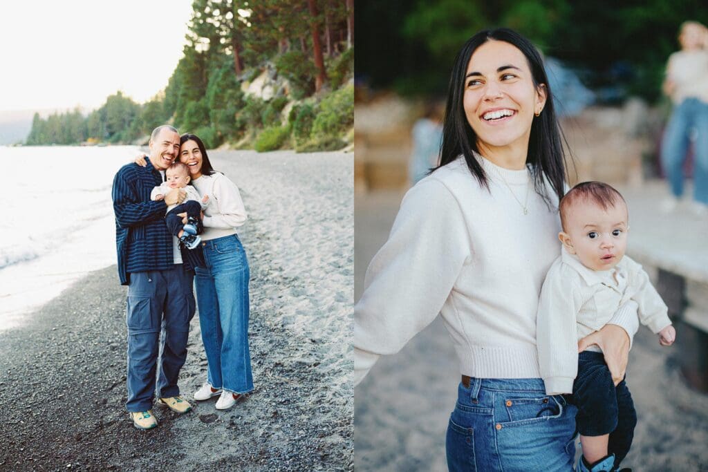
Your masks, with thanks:
[(539, 372), (547, 395), (572, 393), (578, 374), (578, 328), (582, 306), (576, 272), (564, 271), (559, 260), (546, 275), (536, 317)]

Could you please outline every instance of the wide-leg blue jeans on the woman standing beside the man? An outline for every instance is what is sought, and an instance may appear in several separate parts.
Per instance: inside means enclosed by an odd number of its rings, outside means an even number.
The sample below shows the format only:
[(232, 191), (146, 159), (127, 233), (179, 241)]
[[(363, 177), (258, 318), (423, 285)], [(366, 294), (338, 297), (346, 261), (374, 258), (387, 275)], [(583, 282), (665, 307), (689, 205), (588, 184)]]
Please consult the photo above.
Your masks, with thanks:
[(249, 261), (235, 234), (202, 244), (205, 267), (195, 267), (199, 324), (207, 380), (237, 393), (253, 390), (249, 353)]

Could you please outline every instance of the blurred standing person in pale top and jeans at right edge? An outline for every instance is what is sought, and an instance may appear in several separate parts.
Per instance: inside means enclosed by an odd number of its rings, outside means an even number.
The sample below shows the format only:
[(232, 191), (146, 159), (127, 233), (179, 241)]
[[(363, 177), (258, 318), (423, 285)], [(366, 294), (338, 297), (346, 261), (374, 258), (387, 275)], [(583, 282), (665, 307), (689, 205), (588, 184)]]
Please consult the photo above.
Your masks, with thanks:
[(690, 142), (694, 144), (693, 203), (697, 214), (708, 214), (708, 29), (697, 21), (681, 25), (681, 50), (668, 58), (663, 93), (674, 108), (661, 144), (661, 163), (672, 196), (663, 202), (665, 212), (683, 195), (683, 163)]

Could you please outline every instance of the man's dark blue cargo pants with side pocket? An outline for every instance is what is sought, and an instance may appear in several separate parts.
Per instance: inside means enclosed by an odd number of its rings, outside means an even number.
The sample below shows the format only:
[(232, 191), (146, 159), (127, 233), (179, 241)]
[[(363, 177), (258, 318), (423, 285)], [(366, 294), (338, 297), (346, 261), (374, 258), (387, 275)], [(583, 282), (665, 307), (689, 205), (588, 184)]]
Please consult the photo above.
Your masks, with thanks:
[(128, 411), (152, 408), (159, 352), (157, 394), (160, 398), (179, 395), (177, 380), (187, 359), (189, 322), (196, 308), (193, 279), (193, 273), (181, 264), (170, 270), (130, 274), (126, 313)]

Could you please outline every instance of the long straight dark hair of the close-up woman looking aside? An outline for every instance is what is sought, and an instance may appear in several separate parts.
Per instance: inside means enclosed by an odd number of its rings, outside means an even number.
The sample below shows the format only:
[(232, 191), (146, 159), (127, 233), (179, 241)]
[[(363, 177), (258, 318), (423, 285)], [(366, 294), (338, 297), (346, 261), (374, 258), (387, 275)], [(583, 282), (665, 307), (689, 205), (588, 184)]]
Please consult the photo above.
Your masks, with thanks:
[(541, 54), (532, 43), (519, 33), (508, 28), (484, 30), (476, 33), (464, 43), (457, 53), (455, 65), (450, 75), (450, 88), (447, 91), (447, 106), (445, 120), (442, 125), (442, 144), (440, 145), (440, 168), (455, 161), (462, 154), (467, 161), (467, 167), (472, 175), (479, 180), (480, 185), (489, 188), (484, 169), (474, 158), (472, 151), (479, 152), (476, 144), (476, 134), (467, 122), (462, 100), (464, 98), (465, 74), (469, 58), (478, 47), (489, 40), (504, 41), (520, 50), (529, 64), (533, 83), (536, 88), (544, 84), (546, 104), (541, 115), (535, 116), (531, 123), (531, 135), (526, 163), (531, 164), (532, 178), (536, 192), (550, 205), (550, 200), (544, 185), (544, 175), (555, 190), (558, 198), (563, 197), (565, 190), (566, 162), (561, 137), (563, 134), (556, 120), (553, 107), (553, 95), (548, 84), (546, 71), (543, 67)]

